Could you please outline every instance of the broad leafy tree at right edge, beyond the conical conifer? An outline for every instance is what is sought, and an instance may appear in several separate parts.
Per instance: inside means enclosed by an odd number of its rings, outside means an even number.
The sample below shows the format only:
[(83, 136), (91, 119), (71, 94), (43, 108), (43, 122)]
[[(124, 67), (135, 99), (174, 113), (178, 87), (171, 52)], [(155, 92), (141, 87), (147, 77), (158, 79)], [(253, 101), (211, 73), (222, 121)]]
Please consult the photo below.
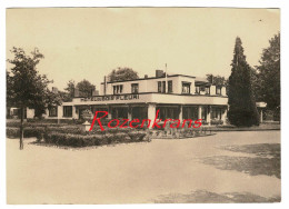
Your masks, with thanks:
[(280, 110), (280, 32), (269, 43), (257, 67), (260, 99), (267, 102), (268, 109)]

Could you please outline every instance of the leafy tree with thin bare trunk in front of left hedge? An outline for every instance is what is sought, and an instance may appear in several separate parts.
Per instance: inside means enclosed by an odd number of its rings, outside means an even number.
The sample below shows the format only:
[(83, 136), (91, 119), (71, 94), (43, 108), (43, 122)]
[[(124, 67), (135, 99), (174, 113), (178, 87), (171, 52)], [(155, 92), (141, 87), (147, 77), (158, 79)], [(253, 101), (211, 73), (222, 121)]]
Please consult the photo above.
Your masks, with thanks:
[[(52, 99), (48, 83), (52, 82), (37, 71), (37, 64), (43, 59), (43, 54), (36, 48), (31, 56), (27, 56), (21, 48), (11, 50), (13, 59), (8, 59), (12, 64), (7, 71), (7, 106), (17, 107), (21, 112), (20, 149), (23, 149), (23, 117), (24, 109), (38, 109), (43, 111), (48, 102), (58, 102)], [(52, 101), (53, 100), (53, 101)]]

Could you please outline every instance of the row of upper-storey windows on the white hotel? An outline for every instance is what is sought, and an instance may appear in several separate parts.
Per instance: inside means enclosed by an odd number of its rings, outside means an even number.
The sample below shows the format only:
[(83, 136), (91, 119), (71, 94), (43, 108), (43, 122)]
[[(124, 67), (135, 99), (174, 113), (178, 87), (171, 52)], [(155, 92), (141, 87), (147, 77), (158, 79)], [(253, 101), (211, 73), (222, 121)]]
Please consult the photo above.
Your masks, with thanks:
[[(121, 94), (123, 91), (123, 84), (113, 86), (113, 94)], [(139, 83), (131, 83), (131, 93), (139, 92)], [(158, 81), (158, 92), (159, 93), (172, 93), (172, 80), (168, 81), (168, 89), (166, 87), (166, 81)], [(182, 93), (191, 93), (191, 82), (182, 82), (181, 88)], [(210, 94), (210, 87), (206, 86), (196, 86), (195, 87), (196, 94)], [(216, 87), (216, 94), (221, 94), (221, 87)]]

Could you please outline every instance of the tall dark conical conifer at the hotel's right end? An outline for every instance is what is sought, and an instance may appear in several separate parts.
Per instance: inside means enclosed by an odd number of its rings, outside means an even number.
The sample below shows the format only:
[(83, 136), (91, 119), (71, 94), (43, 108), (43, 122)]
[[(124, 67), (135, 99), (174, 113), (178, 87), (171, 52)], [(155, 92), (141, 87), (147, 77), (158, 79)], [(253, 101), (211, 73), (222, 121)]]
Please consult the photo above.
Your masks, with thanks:
[(246, 61), (242, 42), (239, 37), (236, 38), (231, 67), (228, 92), (229, 121), (238, 127), (259, 125), (259, 115), (251, 84), (252, 69)]

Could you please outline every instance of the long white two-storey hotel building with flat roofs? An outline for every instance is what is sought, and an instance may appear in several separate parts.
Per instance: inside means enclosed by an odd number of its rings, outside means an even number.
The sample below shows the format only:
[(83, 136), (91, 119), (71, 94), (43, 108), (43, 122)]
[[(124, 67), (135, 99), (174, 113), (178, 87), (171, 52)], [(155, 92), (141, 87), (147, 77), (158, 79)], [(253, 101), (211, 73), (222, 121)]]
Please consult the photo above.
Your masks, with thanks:
[[(151, 119), (159, 110), (159, 119), (202, 119), (227, 121), (226, 87), (213, 86), (207, 79), (185, 74), (166, 77), (160, 70), (156, 77), (102, 82), (98, 96), (74, 97), (71, 102), (47, 110), (47, 119), (79, 119), (83, 110), (108, 111), (108, 119)], [(33, 110), (28, 110), (28, 118)]]

